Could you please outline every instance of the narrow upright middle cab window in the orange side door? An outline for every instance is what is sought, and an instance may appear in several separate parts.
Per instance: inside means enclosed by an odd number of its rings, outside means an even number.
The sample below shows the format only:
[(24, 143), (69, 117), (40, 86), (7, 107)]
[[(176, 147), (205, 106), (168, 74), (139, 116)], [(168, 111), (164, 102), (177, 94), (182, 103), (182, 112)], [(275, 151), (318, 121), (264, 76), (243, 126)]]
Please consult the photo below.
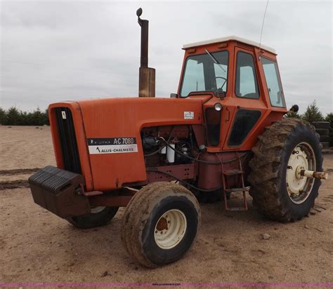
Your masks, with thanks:
[(239, 98), (259, 98), (254, 58), (249, 53), (237, 53), (235, 93)]

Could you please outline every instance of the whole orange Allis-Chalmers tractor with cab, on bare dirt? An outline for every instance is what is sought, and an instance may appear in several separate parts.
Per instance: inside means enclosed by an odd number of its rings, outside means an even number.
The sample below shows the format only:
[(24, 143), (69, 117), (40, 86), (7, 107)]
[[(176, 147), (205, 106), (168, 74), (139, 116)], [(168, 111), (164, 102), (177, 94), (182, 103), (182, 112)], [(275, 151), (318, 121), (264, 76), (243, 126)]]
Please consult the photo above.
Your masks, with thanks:
[[(327, 174), (313, 126), (284, 118), (275, 51), (235, 36), (185, 45), (178, 93), (154, 98), (141, 13), (141, 97), (50, 105), (58, 167), (30, 177), (35, 203), (83, 229), (126, 207), (122, 241), (146, 267), (189, 250), (200, 227), (197, 200), (246, 210), (249, 190), (271, 220), (308, 215)], [(228, 199), (236, 193), (244, 202), (235, 208)]]

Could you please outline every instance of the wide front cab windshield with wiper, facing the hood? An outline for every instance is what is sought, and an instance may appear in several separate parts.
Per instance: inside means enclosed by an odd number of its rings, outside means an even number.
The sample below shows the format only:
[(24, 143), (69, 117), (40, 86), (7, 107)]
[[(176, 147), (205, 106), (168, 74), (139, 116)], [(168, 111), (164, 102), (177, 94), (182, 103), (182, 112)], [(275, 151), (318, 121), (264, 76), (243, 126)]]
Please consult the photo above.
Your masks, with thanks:
[[(228, 51), (189, 56), (181, 85), (181, 97), (192, 92), (226, 92), (228, 84)], [(216, 61), (214, 61), (214, 59)]]

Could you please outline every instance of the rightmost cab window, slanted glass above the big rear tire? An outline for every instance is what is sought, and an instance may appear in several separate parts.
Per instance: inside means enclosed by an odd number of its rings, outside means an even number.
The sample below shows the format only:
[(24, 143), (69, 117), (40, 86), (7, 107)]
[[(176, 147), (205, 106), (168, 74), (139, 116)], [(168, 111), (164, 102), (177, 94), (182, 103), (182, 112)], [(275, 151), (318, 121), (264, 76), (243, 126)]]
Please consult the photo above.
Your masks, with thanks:
[(273, 107), (285, 107), (285, 97), (282, 91), (278, 65), (275, 61), (261, 58), (263, 72), (265, 73), (270, 105)]

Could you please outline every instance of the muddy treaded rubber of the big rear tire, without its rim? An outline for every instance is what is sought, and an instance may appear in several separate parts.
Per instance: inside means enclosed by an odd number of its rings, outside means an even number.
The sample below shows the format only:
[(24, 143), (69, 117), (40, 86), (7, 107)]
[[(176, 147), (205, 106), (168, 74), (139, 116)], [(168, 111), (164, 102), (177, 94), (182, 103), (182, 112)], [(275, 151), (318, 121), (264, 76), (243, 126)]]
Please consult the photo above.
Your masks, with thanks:
[(300, 119), (282, 119), (266, 128), (253, 147), (254, 157), (248, 180), (252, 184), (254, 206), (271, 220), (290, 222), (308, 215), (318, 196), (320, 180), (313, 179), (308, 197), (295, 203), (287, 189), (287, 164), (294, 148), (306, 143), (315, 156), (315, 170), (322, 171), (322, 154), (319, 135), (315, 128)]

